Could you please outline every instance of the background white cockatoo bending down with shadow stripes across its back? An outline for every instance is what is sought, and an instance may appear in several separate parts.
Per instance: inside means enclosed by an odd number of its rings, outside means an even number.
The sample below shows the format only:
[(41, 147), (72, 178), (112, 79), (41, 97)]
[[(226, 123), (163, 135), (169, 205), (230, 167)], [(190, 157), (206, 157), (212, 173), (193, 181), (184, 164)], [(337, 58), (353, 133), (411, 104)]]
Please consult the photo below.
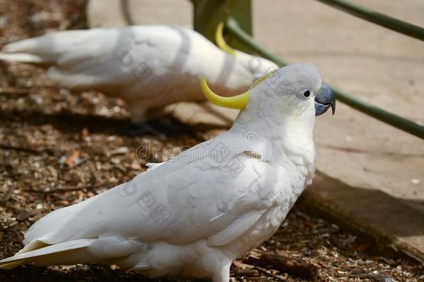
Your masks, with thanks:
[(222, 28), (215, 34), (222, 49), (191, 29), (146, 25), (48, 33), (5, 45), (0, 60), (41, 64), (61, 86), (122, 97), (141, 123), (167, 104), (205, 100), (201, 77), (231, 96), (278, 68), (231, 49)]

